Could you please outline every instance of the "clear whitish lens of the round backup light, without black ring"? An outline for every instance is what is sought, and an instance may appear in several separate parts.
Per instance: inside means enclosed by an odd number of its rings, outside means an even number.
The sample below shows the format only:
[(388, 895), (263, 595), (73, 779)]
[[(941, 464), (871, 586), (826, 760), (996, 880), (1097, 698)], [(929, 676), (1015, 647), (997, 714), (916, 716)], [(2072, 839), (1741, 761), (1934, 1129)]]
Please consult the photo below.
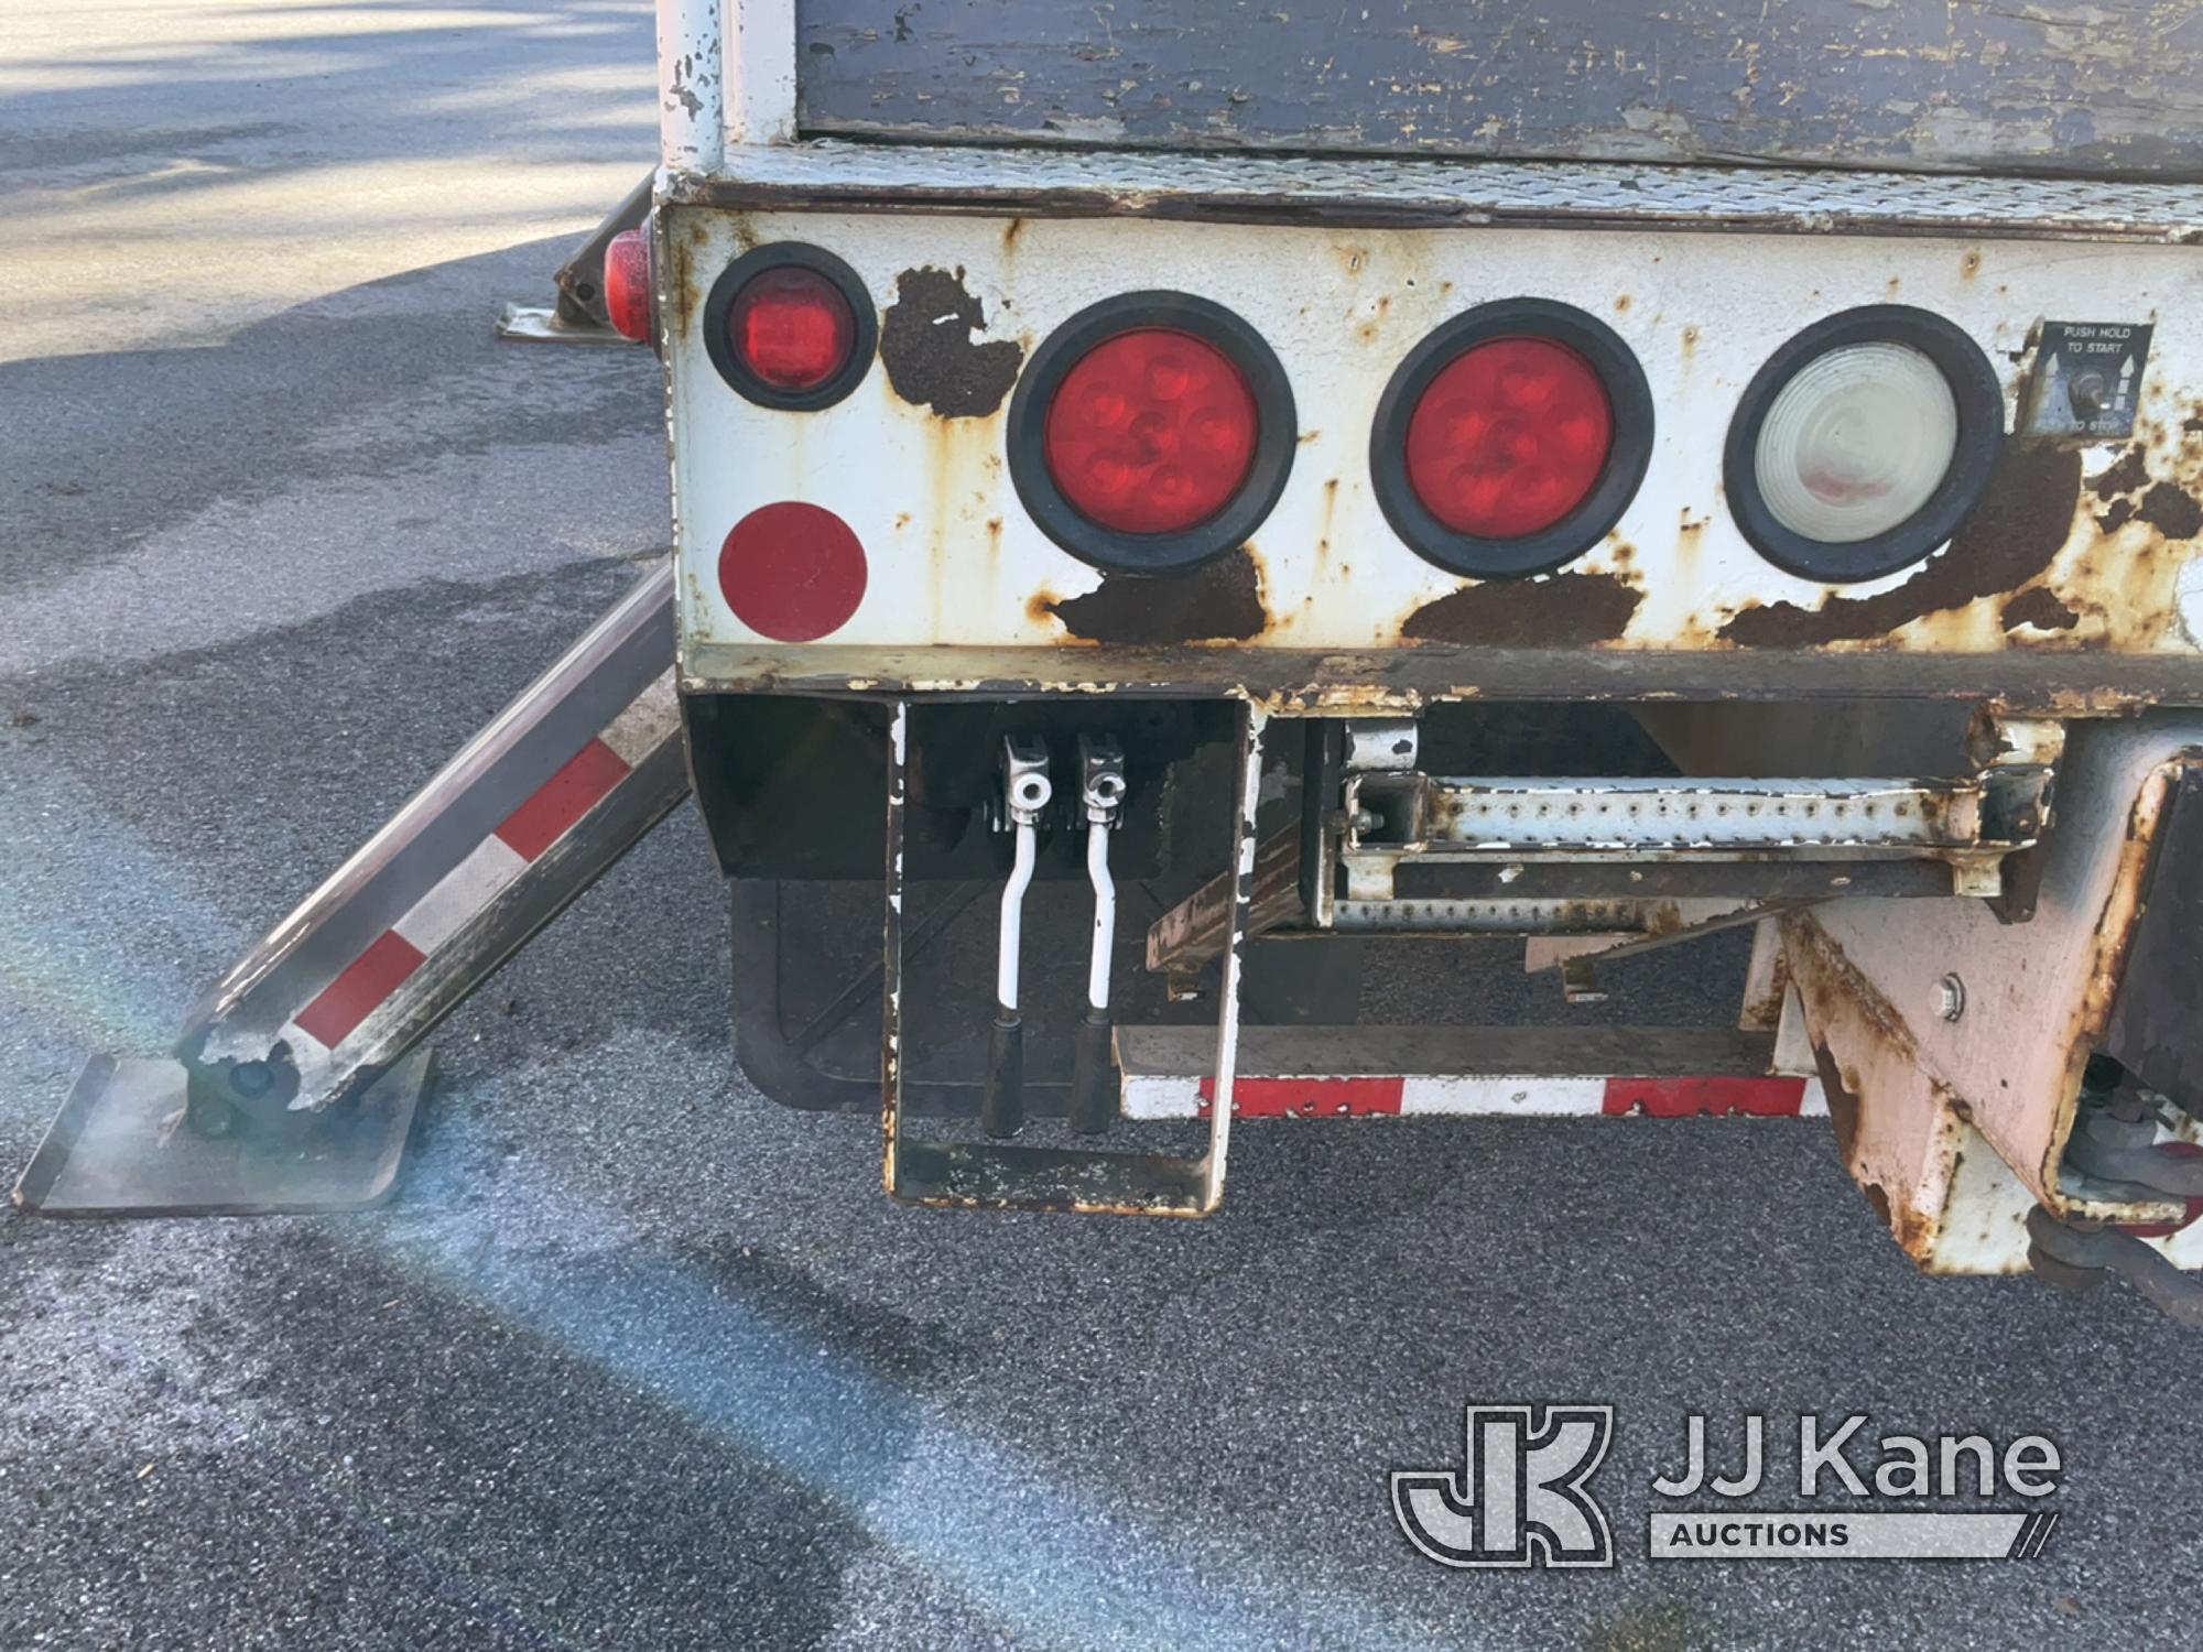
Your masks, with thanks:
[(1776, 392), (1751, 469), (1791, 533), (1857, 544), (1921, 511), (1958, 452), (1958, 399), (1910, 344), (1848, 344)]

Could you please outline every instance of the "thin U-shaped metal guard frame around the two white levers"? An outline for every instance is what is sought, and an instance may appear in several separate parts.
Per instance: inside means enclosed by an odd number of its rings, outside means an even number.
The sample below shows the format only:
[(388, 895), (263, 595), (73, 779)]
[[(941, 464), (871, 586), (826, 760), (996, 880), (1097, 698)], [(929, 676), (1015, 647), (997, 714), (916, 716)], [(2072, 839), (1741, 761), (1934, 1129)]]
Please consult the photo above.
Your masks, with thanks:
[(1262, 725), (1242, 707), (1231, 789), (1231, 912), (1216, 1011), (1216, 1090), (1209, 1141), (1198, 1156), (1031, 1148), (1002, 1141), (923, 1141), (903, 1132), (903, 804), (910, 703), (888, 722), (888, 866), (881, 934), (881, 1145), (888, 1196), (945, 1209), (1046, 1209), (1106, 1216), (1207, 1216), (1225, 1192), (1231, 1143), (1231, 1073), (1238, 1062), (1240, 965), (1254, 901), (1254, 819), (1262, 782)]

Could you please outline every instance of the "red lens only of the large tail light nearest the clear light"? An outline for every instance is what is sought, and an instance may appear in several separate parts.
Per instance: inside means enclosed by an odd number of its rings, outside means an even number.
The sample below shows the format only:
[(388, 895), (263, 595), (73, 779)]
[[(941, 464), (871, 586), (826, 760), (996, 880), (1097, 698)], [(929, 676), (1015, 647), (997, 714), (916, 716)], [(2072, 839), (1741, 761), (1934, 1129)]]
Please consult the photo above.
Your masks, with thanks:
[(1613, 403), (1584, 357), (1553, 339), (1491, 339), (1414, 405), (1408, 485), (1454, 533), (1520, 540), (1591, 496), (1613, 441)]

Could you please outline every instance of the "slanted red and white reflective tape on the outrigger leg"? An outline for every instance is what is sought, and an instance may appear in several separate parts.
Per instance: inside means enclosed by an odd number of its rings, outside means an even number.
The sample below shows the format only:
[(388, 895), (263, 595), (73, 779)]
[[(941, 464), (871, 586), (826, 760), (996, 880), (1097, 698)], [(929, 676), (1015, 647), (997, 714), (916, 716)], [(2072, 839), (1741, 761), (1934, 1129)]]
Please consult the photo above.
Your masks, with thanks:
[(679, 727), (681, 700), (674, 674), (665, 672), (284, 1024), (282, 1037), (291, 1042), (300, 1066), (326, 1059), (326, 1051), (357, 1033), (430, 954), (542, 859), (643, 758), (674, 738)]

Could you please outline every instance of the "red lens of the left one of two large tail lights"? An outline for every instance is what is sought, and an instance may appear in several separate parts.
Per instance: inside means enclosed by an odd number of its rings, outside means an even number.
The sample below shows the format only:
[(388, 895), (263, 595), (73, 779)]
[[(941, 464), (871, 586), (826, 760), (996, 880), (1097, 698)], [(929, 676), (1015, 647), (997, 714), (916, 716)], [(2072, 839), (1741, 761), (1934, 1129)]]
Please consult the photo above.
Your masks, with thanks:
[(1042, 449), (1079, 515), (1119, 533), (1181, 533), (1247, 485), (1260, 434), (1231, 357), (1192, 333), (1139, 328), (1064, 374)]

